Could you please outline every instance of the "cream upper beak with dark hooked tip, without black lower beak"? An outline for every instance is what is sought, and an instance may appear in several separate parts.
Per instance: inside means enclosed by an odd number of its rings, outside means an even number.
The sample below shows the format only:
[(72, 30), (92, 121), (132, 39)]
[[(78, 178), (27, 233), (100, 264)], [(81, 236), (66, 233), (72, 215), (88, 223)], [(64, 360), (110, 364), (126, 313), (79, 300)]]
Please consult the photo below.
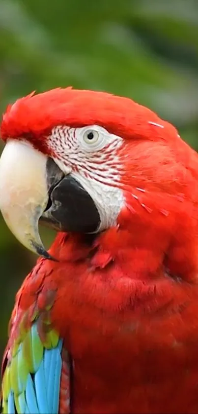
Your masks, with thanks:
[(51, 185), (63, 173), (56, 166), (48, 177), (49, 158), (24, 141), (9, 140), (0, 157), (0, 210), (16, 238), (29, 250), (53, 259), (45, 250), (38, 221), (48, 200)]

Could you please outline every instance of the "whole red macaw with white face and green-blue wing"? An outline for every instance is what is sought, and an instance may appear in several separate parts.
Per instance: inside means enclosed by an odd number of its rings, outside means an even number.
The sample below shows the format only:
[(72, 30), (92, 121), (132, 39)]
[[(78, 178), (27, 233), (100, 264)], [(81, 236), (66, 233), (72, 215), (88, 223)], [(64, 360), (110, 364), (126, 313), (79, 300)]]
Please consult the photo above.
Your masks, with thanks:
[(0, 211), (38, 255), (1, 412), (198, 413), (197, 152), (131, 98), (73, 87), (8, 105), (0, 136)]

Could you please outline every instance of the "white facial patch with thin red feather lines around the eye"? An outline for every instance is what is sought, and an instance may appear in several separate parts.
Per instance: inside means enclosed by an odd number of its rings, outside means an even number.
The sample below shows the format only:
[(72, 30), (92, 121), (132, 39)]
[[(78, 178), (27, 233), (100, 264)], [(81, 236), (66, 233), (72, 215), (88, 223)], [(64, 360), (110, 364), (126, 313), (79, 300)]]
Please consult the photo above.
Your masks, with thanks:
[(101, 220), (98, 231), (116, 225), (124, 205), (123, 193), (118, 187), (122, 171), (118, 149), (122, 143), (121, 137), (99, 125), (57, 126), (48, 138), (58, 167), (65, 174), (71, 173), (93, 199)]

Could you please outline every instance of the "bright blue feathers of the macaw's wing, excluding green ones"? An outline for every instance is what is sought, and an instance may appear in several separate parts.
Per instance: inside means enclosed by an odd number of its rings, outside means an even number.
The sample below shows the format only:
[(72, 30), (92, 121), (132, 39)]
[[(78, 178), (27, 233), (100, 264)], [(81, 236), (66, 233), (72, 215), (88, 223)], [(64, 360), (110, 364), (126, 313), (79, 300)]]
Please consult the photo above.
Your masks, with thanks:
[(3, 411), (3, 414), (58, 414), (62, 371), (62, 340), (59, 339), (57, 346), (52, 346), (50, 349), (43, 346), (43, 352), (40, 351), (39, 354), (39, 361), (38, 358), (36, 359), (35, 353), (40, 340), (39, 337), (37, 338), (36, 323), (32, 325), (30, 334), (35, 372), (32, 374), (30, 370), (27, 376), (22, 375), (25, 354), (23, 354), (23, 347), (20, 344), (17, 353), (13, 356), (18, 364), (18, 368), (15, 370), (17, 372), (17, 386), (13, 388), (15, 383), (12, 381), (13, 386), (11, 383), (7, 399), (5, 399), (4, 407), (7, 407), (5, 408), (7, 411)]

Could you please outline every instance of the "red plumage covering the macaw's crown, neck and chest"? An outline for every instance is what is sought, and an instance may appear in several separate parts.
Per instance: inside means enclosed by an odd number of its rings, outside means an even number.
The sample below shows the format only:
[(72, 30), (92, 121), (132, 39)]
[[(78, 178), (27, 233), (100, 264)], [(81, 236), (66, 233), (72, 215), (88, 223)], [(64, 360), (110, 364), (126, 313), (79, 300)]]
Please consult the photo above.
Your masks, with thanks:
[(18, 100), (1, 136), (48, 153), (59, 124), (126, 140), (126, 206), (96, 238), (59, 233), (49, 251), (59, 262), (38, 260), (16, 306), (42, 309), (54, 292), (52, 324), (75, 361), (74, 413), (197, 413), (198, 155), (130, 99), (70, 88)]

